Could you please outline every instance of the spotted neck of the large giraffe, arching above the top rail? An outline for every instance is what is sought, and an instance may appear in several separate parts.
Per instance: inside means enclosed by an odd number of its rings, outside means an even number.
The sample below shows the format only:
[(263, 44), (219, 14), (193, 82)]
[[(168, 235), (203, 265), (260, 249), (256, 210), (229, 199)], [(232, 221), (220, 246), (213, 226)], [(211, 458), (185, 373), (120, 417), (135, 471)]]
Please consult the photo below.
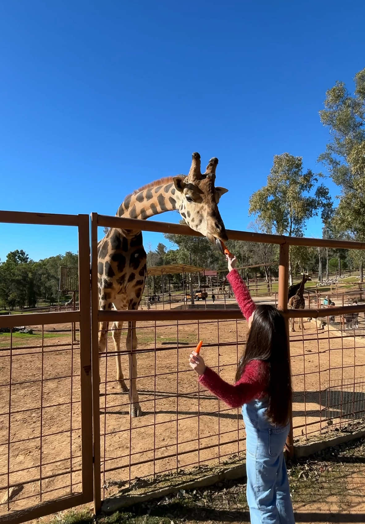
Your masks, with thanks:
[(150, 216), (179, 209), (180, 194), (171, 179), (168, 183), (142, 189), (128, 195), (117, 211), (117, 216), (130, 219), (148, 219)]

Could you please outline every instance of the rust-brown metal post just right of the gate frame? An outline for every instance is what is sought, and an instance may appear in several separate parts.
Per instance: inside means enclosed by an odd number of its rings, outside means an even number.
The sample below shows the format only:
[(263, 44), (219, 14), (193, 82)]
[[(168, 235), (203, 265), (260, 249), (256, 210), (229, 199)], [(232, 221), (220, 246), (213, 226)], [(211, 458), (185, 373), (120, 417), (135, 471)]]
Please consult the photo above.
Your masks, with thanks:
[(93, 383), (94, 513), (100, 511), (99, 298), (97, 290), (97, 213), (91, 214), (91, 369)]

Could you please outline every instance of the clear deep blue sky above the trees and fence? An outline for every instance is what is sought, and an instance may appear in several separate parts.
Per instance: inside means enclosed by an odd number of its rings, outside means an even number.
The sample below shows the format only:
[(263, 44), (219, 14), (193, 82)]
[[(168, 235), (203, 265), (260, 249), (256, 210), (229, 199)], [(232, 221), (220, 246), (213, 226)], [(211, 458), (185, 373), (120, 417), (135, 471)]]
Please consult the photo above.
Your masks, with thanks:
[[(226, 227), (246, 229), (273, 155), (320, 169), (318, 110), (364, 67), (364, 14), (362, 0), (2, 2), (0, 208), (114, 215), (199, 151), (219, 158)], [(321, 229), (312, 220), (307, 234)], [(145, 234), (146, 248), (160, 240)], [(0, 225), (0, 258), (17, 248), (76, 251), (76, 235)]]

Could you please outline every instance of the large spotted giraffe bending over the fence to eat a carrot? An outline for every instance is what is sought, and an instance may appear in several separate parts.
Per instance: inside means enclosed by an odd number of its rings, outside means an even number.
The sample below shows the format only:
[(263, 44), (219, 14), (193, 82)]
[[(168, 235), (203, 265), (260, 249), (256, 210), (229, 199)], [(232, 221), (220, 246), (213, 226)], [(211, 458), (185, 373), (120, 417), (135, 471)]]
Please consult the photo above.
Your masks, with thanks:
[[(218, 211), (220, 197), (228, 191), (215, 187), (217, 158), (212, 158), (201, 173), (198, 153), (193, 153), (192, 164), (187, 176), (179, 175), (156, 180), (126, 196), (116, 216), (131, 219), (148, 219), (165, 211), (178, 210), (187, 225), (202, 233), (211, 244), (228, 237)], [(109, 228), (98, 243), (98, 292), (99, 308), (102, 310), (138, 309), (147, 273), (146, 252), (142, 243), (142, 232)], [(124, 381), (120, 363), (120, 335), (123, 322), (114, 322), (112, 336), (116, 352), (117, 382), (123, 392), (128, 388)], [(99, 354), (106, 348), (108, 323), (99, 325)], [(131, 417), (142, 414), (137, 379), (137, 336), (136, 322), (128, 322), (126, 348), (129, 354), (129, 400)]]

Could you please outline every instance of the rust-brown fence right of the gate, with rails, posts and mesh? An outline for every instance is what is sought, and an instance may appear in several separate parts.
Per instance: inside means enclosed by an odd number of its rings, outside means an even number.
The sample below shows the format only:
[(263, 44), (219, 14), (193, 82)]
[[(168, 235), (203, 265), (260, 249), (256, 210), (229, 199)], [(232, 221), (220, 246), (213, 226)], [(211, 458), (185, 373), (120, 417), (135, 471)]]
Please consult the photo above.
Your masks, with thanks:
[[(187, 359), (200, 339), (205, 340), (204, 356), (209, 366), (227, 380), (235, 375), (238, 355), (244, 350), (247, 323), (237, 309), (169, 309), (142, 311), (98, 311), (97, 302), (97, 227), (180, 233), (196, 235), (189, 227), (176, 224), (136, 221), (119, 217), (92, 214), (92, 311), (93, 358), (97, 366), (97, 336), (99, 322), (137, 322), (138, 349), (114, 348), (113, 330), (108, 330), (107, 349), (101, 358), (102, 392), (100, 406), (94, 396), (94, 431), (101, 435), (101, 470), (95, 468), (95, 508), (105, 497), (128, 493), (130, 487), (140, 485), (141, 477), (158, 473), (176, 472), (181, 468), (200, 466), (237, 456), (245, 452), (245, 432), (239, 410), (227, 409), (222, 403), (202, 391)], [(313, 309), (287, 311), (287, 280), (289, 244), (327, 245), (363, 249), (358, 242), (335, 242), (322, 239), (286, 238), (239, 231), (229, 231), (231, 239), (280, 244), (279, 293), (277, 304), (287, 319), (300, 316), (305, 328), (294, 332), (290, 339), (293, 373), (293, 419), (287, 450), (293, 452), (294, 438), (308, 438), (313, 433), (328, 430), (328, 409), (323, 395), (328, 387), (325, 381), (334, 378), (336, 344), (344, 336), (327, 325), (321, 332), (323, 311)], [(276, 303), (276, 300), (275, 300)], [(333, 308), (333, 315), (347, 315), (365, 311), (364, 306)], [(320, 318), (322, 315), (322, 318)], [(333, 316), (331, 315), (331, 316)], [(306, 319), (311, 318), (311, 321)], [(319, 327), (318, 327), (319, 326)], [(105, 329), (105, 326), (104, 326)], [(289, 326), (288, 326), (289, 329)], [(131, 332), (122, 335), (122, 344)], [(356, 334), (352, 338), (355, 340)], [(323, 339), (323, 340), (322, 340)], [(316, 349), (312, 346), (316, 345)], [(324, 348), (324, 344), (326, 347)], [(346, 343), (341, 342), (345, 347)], [(355, 348), (355, 342), (350, 342)], [(348, 345), (348, 344), (347, 344)], [(314, 347), (314, 346), (313, 346)], [(130, 372), (128, 387), (136, 383), (140, 394), (141, 418), (132, 418), (131, 399), (120, 394), (114, 359), (122, 358), (122, 368), (128, 369), (128, 357), (136, 358), (138, 374)], [(348, 353), (347, 353), (348, 354)], [(308, 362), (308, 355), (311, 362)], [(328, 362), (325, 362), (324, 355)], [(357, 358), (360, 355), (357, 355)], [(365, 355), (364, 355), (365, 357)], [(317, 359), (315, 362), (315, 358)], [(332, 362), (331, 362), (332, 360)], [(309, 364), (314, 363), (311, 366)], [(365, 358), (363, 359), (365, 364)], [(353, 371), (353, 366), (349, 367)], [(344, 363), (341, 363), (344, 368)], [(332, 374), (331, 374), (332, 373)], [(315, 405), (315, 407), (314, 407)], [(327, 411), (326, 411), (327, 410)], [(101, 413), (101, 429), (98, 427)], [(326, 425), (327, 424), (327, 425)], [(96, 453), (99, 450), (96, 449)], [(117, 452), (116, 452), (117, 450)], [(98, 464), (98, 461), (95, 460)], [(98, 498), (98, 493), (101, 497)]]

